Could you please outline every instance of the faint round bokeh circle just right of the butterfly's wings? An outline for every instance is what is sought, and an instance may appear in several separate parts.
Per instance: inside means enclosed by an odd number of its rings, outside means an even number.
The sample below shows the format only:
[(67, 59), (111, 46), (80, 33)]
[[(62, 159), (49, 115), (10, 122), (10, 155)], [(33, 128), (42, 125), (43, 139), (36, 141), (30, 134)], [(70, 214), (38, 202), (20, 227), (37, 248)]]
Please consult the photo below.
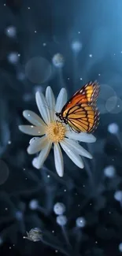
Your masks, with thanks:
[(109, 106), (109, 109), (114, 109), (116, 106), (116, 92), (108, 84), (100, 84), (100, 92), (98, 95), (98, 109), (101, 114), (108, 113), (109, 110), (106, 108), (106, 102), (109, 98), (113, 98), (113, 105)]

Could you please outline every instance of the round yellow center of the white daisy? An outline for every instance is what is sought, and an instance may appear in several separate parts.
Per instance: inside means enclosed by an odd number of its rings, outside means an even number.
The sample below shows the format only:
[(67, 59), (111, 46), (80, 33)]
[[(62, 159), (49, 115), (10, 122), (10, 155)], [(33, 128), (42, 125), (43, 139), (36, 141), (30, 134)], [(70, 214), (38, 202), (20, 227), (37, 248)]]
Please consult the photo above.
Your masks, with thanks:
[(52, 122), (46, 127), (46, 135), (52, 143), (60, 143), (65, 137), (65, 125), (60, 122)]

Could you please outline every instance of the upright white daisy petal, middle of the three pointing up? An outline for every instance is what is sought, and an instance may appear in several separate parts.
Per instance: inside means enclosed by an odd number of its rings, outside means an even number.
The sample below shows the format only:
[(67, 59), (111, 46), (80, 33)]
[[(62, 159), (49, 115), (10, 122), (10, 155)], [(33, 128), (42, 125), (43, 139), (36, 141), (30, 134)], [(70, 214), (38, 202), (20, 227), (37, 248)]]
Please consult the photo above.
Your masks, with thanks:
[(49, 111), (50, 111), (50, 120), (54, 121), (54, 114), (55, 114), (55, 98), (54, 98), (54, 93), (51, 89), (50, 86), (46, 88), (46, 102), (49, 106)]

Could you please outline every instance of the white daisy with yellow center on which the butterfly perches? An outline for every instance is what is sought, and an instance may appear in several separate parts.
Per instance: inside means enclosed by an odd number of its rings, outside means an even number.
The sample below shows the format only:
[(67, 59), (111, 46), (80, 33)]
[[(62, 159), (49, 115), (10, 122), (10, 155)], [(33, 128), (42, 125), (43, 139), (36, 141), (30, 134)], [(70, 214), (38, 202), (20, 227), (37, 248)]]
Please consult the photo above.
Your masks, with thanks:
[(35, 100), (43, 118), (30, 110), (24, 110), (24, 117), (32, 125), (19, 126), (21, 132), (37, 136), (31, 139), (27, 149), (28, 154), (40, 152), (39, 156), (32, 161), (32, 165), (36, 169), (40, 169), (44, 161), (46, 161), (52, 145), (54, 145), (54, 163), (59, 176), (62, 177), (64, 174), (64, 161), (61, 147), (79, 168), (83, 168), (84, 165), (81, 156), (86, 158), (92, 158), (92, 156), (79, 145), (79, 142), (94, 143), (96, 138), (94, 135), (85, 132), (76, 133), (70, 131), (68, 124), (57, 122), (55, 113), (61, 112), (62, 107), (67, 102), (67, 92), (65, 88), (61, 89), (56, 102), (51, 87), (46, 88), (46, 97), (44, 97), (42, 92), (37, 91)]

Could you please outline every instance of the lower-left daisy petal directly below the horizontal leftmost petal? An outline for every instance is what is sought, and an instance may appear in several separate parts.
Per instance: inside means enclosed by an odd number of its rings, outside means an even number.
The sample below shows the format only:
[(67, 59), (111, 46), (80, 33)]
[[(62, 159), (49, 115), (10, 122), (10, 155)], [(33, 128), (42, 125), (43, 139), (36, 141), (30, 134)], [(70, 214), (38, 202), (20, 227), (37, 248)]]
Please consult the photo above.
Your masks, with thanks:
[(35, 154), (35, 153), (39, 152), (44, 147), (46, 147), (47, 143), (48, 143), (48, 140), (47, 140), (46, 136), (43, 136), (42, 138), (39, 138), (36, 140), (33, 140), (27, 149), (28, 154)]

